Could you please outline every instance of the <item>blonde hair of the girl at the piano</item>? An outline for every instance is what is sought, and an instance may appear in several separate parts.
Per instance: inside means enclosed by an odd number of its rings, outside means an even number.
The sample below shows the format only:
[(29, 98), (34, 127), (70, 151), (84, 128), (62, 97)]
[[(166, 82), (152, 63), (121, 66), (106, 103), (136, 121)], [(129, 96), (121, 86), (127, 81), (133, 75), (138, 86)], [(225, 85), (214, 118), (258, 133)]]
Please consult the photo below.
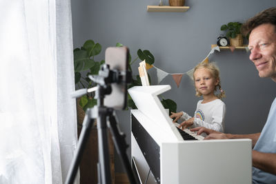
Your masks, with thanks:
[[(217, 68), (217, 66), (215, 65), (215, 63), (199, 63), (198, 65), (195, 66), (194, 68), (194, 73), (193, 73), (193, 77), (194, 77), (194, 81), (195, 81), (195, 71), (197, 69), (200, 69), (200, 68), (206, 68), (210, 71), (210, 73), (212, 74), (212, 76), (217, 80), (219, 80), (219, 83), (215, 86), (215, 92), (217, 90), (219, 90), (219, 94), (216, 94), (217, 98), (218, 99), (222, 99), (224, 97), (226, 97), (225, 95), (225, 91), (221, 89), (221, 84), (220, 84), (220, 78), (219, 78), (219, 68)], [(201, 96), (202, 94), (200, 92), (197, 91), (197, 89), (195, 89), (196, 93), (195, 95), (196, 96)]]

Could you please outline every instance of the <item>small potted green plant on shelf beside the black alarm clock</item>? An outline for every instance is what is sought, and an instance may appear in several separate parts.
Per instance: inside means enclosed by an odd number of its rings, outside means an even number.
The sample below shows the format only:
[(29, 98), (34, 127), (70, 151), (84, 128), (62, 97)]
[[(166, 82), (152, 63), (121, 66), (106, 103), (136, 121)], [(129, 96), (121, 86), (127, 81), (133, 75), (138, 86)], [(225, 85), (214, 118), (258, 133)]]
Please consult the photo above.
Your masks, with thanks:
[(221, 25), (220, 30), (226, 31), (226, 37), (230, 39), (231, 46), (242, 46), (243, 45), (243, 37), (241, 34), (242, 23), (240, 22), (229, 22), (224, 25)]

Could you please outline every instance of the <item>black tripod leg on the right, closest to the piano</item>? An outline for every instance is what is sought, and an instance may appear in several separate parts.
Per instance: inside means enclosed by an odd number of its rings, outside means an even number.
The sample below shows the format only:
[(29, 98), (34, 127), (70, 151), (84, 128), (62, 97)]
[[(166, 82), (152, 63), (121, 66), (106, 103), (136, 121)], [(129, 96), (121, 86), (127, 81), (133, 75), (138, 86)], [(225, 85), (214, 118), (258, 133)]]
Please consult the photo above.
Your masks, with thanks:
[(115, 116), (112, 113), (109, 114), (110, 121), (110, 129), (112, 133), (112, 139), (114, 141), (114, 145), (116, 147), (117, 153), (119, 154), (121, 161), (123, 162), (124, 168), (126, 170), (126, 174), (128, 174), (128, 180), (131, 184), (138, 183), (138, 179), (135, 178), (135, 175), (132, 172), (131, 165), (128, 161), (128, 156), (126, 154), (126, 148), (128, 145), (126, 144), (125, 134), (120, 134), (117, 128), (117, 121)]

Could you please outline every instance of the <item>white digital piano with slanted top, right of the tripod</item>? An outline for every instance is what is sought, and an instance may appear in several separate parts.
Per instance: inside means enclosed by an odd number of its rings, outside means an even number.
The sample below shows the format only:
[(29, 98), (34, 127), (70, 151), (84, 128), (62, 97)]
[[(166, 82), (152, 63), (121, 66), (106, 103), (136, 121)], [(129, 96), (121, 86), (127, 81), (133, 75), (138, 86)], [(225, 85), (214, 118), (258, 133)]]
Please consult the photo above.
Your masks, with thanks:
[(186, 141), (157, 95), (170, 85), (128, 90), (131, 110), (132, 167), (144, 183), (252, 183), (250, 139)]

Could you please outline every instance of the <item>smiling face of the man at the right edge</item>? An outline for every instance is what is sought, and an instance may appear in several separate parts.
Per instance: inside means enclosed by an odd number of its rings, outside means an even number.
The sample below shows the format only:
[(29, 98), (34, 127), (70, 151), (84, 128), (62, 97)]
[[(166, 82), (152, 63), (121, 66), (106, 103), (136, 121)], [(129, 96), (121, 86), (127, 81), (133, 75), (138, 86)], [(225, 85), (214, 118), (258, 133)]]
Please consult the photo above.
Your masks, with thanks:
[(270, 23), (259, 25), (250, 33), (249, 59), (260, 77), (271, 77), (276, 82), (276, 28)]

